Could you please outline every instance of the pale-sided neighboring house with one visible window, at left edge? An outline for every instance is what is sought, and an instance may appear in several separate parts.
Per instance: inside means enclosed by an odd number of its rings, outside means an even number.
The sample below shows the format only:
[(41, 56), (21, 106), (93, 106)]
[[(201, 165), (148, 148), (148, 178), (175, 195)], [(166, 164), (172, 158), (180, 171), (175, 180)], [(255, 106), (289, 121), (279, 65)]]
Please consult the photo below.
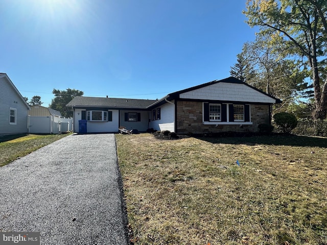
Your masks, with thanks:
[(29, 110), (7, 74), (0, 73), (0, 135), (27, 133)]

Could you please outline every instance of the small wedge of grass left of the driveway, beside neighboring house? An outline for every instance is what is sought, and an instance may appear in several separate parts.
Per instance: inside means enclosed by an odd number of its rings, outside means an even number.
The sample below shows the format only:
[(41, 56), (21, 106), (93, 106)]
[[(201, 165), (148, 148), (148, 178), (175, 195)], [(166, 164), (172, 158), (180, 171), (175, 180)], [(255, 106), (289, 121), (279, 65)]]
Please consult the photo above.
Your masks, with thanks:
[(19, 134), (0, 137), (0, 167), (69, 134)]

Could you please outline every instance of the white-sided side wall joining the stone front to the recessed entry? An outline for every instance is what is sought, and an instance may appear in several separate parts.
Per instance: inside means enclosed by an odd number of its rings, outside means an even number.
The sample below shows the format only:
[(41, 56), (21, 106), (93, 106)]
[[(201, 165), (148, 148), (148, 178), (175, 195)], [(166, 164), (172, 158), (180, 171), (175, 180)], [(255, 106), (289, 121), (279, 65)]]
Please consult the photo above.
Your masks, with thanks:
[[(174, 101), (172, 101), (174, 103)], [(174, 121), (175, 121), (175, 105), (166, 103), (160, 107), (160, 119), (152, 120), (152, 112), (150, 112), (150, 128), (154, 130), (175, 132)], [(157, 109), (154, 108), (154, 109)]]

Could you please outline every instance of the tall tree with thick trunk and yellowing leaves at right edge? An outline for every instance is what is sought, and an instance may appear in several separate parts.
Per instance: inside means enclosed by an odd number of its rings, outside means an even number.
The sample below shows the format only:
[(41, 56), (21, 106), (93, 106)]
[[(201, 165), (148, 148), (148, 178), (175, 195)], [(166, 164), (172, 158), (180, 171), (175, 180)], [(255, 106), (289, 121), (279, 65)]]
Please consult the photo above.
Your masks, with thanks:
[(321, 75), (325, 64), (327, 41), (326, 0), (247, 0), (247, 23), (261, 27), (260, 33), (285, 41), (285, 52), (298, 56), (311, 69), (314, 88), (315, 119), (327, 112), (327, 79)]

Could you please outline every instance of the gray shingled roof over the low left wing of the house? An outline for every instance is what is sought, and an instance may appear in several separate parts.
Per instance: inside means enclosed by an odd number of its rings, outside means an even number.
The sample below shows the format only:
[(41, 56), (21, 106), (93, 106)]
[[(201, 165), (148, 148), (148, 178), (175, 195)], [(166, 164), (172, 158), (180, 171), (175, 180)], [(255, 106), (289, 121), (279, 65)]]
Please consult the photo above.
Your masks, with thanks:
[(157, 100), (76, 96), (66, 106), (146, 109), (148, 106), (155, 103), (156, 101)]

